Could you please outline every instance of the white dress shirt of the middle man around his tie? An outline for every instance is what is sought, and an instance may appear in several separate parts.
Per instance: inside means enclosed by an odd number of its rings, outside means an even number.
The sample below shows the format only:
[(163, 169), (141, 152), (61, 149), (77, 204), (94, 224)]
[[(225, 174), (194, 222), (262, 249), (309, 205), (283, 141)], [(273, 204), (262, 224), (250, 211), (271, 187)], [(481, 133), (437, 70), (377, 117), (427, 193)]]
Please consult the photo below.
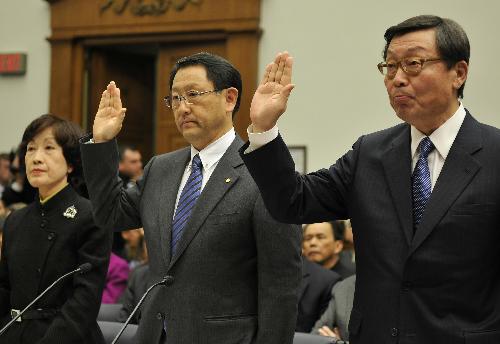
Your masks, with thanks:
[(184, 185), (186, 185), (189, 175), (191, 174), (191, 164), (193, 162), (193, 157), (196, 154), (199, 154), (201, 163), (203, 165), (203, 170), (202, 170), (203, 179), (201, 182), (201, 191), (203, 191), (203, 188), (205, 187), (205, 185), (207, 185), (210, 176), (217, 167), (219, 160), (222, 158), (222, 156), (229, 148), (231, 143), (233, 143), (235, 138), (236, 138), (236, 133), (234, 131), (234, 128), (231, 127), (231, 129), (227, 133), (225, 133), (219, 139), (217, 139), (216, 141), (212, 142), (211, 144), (203, 148), (201, 151), (198, 151), (196, 148), (191, 146), (191, 160), (187, 164), (186, 169), (184, 170), (184, 174), (182, 175), (181, 184), (179, 186), (179, 190), (177, 191), (175, 209), (177, 209), (177, 203), (179, 202), (179, 198), (181, 197), (182, 189), (184, 188)]

